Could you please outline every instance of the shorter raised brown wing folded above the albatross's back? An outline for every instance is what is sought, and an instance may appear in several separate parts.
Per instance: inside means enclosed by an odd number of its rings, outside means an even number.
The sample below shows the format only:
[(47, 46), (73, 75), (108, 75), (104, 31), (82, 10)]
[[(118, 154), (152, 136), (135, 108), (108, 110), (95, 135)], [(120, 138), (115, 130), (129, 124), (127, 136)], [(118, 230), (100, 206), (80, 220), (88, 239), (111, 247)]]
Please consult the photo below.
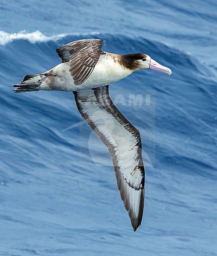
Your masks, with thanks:
[(56, 49), (62, 62), (69, 61), (69, 71), (74, 85), (80, 85), (89, 78), (100, 58), (101, 39), (83, 39)]

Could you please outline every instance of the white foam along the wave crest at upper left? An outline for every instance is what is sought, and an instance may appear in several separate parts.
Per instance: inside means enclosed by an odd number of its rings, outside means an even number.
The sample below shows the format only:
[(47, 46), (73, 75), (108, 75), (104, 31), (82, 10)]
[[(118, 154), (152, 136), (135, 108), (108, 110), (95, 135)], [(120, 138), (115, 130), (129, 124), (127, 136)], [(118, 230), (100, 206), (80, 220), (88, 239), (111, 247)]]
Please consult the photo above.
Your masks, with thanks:
[(60, 40), (61, 38), (67, 35), (99, 35), (99, 34), (100, 32), (89, 32), (89, 33), (74, 32), (74, 33), (68, 33), (68, 34), (66, 33), (66, 34), (47, 36), (47, 35), (44, 35), (42, 32), (40, 32), (39, 30), (36, 30), (31, 33), (26, 32), (26, 30), (22, 30), (18, 33), (13, 33), (13, 34), (0, 30), (0, 45), (8, 44), (17, 39), (28, 40), (30, 43), (34, 44), (37, 42)]

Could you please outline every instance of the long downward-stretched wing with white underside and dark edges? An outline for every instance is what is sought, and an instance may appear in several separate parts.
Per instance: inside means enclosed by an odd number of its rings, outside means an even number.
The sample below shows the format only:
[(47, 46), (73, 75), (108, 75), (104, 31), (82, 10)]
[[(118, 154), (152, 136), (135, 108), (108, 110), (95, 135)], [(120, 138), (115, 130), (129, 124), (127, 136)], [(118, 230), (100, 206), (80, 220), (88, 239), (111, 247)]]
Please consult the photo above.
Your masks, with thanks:
[(109, 85), (73, 93), (79, 112), (109, 149), (121, 199), (136, 231), (143, 217), (145, 189), (140, 133), (111, 101)]

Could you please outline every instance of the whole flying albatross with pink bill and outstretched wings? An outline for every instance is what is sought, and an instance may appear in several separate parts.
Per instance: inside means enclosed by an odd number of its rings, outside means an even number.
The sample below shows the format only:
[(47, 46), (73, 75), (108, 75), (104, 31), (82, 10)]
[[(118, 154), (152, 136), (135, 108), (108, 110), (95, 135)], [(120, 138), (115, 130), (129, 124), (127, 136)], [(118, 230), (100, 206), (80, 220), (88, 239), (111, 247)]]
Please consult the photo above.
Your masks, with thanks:
[(103, 40), (83, 39), (56, 49), (62, 63), (14, 84), (15, 93), (72, 91), (78, 111), (111, 154), (117, 186), (134, 231), (140, 227), (145, 197), (145, 169), (140, 132), (116, 108), (109, 84), (137, 70), (171, 70), (144, 53), (119, 55), (101, 50)]

